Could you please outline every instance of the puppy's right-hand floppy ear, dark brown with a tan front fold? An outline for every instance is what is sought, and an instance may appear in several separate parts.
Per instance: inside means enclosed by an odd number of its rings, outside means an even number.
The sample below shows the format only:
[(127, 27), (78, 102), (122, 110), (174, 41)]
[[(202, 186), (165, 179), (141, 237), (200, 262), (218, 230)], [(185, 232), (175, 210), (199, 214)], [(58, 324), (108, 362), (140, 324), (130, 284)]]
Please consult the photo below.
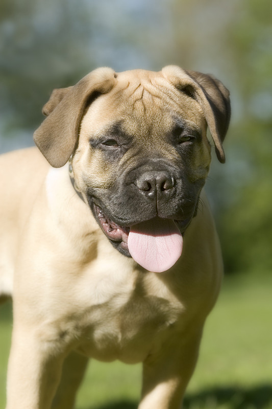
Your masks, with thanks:
[(231, 115), (228, 89), (211, 75), (184, 71), (175, 65), (164, 67), (162, 73), (173, 85), (200, 104), (215, 144), (217, 158), (225, 163), (222, 142)]

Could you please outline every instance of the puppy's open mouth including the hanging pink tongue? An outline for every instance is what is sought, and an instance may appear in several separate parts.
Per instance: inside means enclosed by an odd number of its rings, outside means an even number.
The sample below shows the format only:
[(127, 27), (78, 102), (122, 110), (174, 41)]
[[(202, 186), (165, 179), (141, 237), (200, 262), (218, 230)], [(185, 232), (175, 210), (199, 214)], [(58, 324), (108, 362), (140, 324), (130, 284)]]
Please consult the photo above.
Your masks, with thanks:
[(154, 217), (131, 226), (121, 226), (94, 205), (102, 231), (118, 251), (132, 257), (149, 271), (162, 272), (172, 267), (182, 254), (183, 237), (190, 219)]

